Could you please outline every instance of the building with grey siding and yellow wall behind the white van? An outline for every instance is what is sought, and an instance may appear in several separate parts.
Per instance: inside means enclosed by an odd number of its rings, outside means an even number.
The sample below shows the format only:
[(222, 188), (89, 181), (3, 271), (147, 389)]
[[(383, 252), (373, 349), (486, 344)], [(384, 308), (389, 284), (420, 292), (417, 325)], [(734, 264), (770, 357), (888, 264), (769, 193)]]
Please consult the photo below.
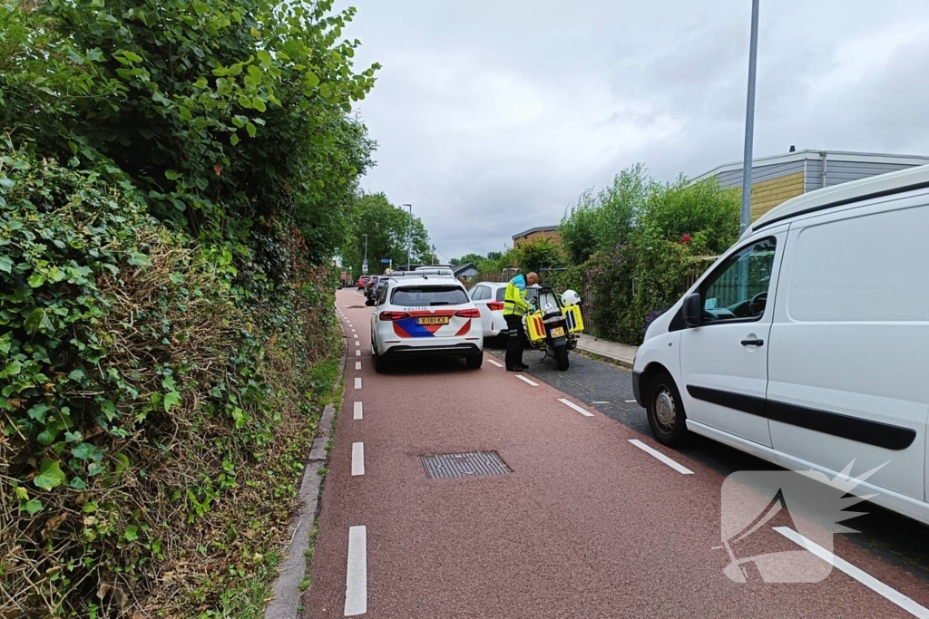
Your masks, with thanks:
[[(808, 191), (926, 164), (929, 157), (842, 150), (792, 150), (759, 157), (752, 161), (752, 221)], [(723, 187), (741, 187), (742, 162), (720, 165), (698, 180), (712, 176)]]

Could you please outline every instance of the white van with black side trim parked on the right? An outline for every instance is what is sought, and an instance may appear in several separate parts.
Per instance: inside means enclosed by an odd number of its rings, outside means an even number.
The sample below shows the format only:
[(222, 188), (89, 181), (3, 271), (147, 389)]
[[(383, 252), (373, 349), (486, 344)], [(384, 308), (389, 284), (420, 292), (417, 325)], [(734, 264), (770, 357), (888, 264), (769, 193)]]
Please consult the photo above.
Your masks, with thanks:
[(883, 465), (856, 494), (929, 523), (929, 166), (765, 213), (651, 323), (633, 388), (664, 445)]

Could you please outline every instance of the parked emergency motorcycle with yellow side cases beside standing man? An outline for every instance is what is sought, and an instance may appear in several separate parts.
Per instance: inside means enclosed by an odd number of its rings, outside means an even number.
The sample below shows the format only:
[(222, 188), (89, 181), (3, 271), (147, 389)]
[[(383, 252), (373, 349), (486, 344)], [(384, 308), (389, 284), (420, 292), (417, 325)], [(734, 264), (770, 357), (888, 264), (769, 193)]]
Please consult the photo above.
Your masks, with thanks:
[(581, 299), (574, 290), (566, 290), (559, 299), (550, 287), (538, 289), (535, 311), (523, 316), (523, 324), (530, 344), (545, 355), (551, 356), (559, 370), (569, 368), (568, 353), (577, 348), (583, 332)]

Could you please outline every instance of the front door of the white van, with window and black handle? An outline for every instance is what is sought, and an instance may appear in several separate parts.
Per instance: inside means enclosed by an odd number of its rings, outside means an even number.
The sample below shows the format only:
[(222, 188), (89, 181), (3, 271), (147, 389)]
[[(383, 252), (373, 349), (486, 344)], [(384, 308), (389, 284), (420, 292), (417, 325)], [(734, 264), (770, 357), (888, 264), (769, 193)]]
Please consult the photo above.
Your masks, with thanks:
[(786, 230), (744, 242), (703, 277), (703, 322), (680, 341), (687, 418), (768, 447), (768, 335)]

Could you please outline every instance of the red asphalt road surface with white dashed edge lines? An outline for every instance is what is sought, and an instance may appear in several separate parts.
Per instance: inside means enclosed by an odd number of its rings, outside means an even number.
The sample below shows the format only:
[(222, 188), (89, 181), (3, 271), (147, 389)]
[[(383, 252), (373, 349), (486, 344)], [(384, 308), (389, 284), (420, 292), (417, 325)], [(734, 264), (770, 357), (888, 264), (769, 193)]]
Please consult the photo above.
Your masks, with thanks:
[[(343, 616), (355, 525), (367, 527), (366, 617), (912, 616), (838, 570), (816, 584), (765, 584), (759, 574), (730, 581), (726, 551), (712, 549), (721, 543), (722, 475), (595, 410), (584, 417), (558, 402), (564, 393), (486, 360), (479, 370), (435, 364), (376, 374), (372, 309), (354, 290), (339, 291), (337, 305), (347, 315), (346, 393), (305, 617)], [(364, 419), (352, 419), (356, 401)], [(694, 474), (672, 470), (634, 438)], [(353, 477), (356, 442), (366, 471)], [(420, 460), (484, 450), (513, 472), (430, 479)], [(799, 548), (769, 527), (751, 539), (743, 556)], [(914, 576), (841, 538), (833, 552), (929, 606)]]

